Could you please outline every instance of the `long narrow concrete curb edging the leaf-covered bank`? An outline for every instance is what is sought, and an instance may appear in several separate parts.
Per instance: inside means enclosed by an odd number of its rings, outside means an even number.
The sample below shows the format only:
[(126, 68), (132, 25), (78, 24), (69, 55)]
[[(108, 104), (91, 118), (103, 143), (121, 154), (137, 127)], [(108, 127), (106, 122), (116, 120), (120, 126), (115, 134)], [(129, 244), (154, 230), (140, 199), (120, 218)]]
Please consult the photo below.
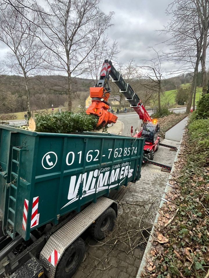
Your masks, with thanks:
[[(183, 138), (183, 136), (184, 136), (184, 133), (183, 133), (183, 135), (182, 135), (182, 138)], [(181, 141), (182, 141), (182, 138), (181, 138)], [(181, 147), (181, 141), (180, 141), (179, 148), (178, 148), (178, 150), (177, 150), (177, 153), (176, 153), (176, 156), (175, 156), (175, 159), (174, 159), (174, 163), (178, 160), (178, 155), (179, 155), (179, 153), (180, 153), (180, 151), (181, 151), (181, 148), (180, 148), (180, 147)], [(169, 185), (169, 180), (172, 179), (172, 175), (171, 175), (171, 174), (172, 174), (172, 172), (173, 172), (174, 169), (175, 169), (174, 163), (173, 163), (171, 173), (170, 173), (170, 175), (169, 175), (169, 177), (168, 177), (168, 180), (167, 180), (167, 183), (166, 183), (166, 186), (165, 186), (165, 190), (164, 190), (164, 193), (163, 193), (163, 197), (161, 198), (161, 203), (160, 203), (159, 209), (161, 209), (162, 206), (163, 206), (163, 204), (165, 203), (165, 201), (163, 201), (163, 199), (166, 200), (166, 193), (167, 193), (168, 191), (171, 190), (171, 187), (170, 187), (170, 185)], [(157, 213), (157, 215), (156, 215), (154, 224), (157, 223), (158, 217), (159, 217), (159, 216), (160, 216), (160, 214), (159, 214), (159, 210), (158, 210), (158, 213)], [(148, 253), (148, 251), (149, 251), (149, 250), (151, 249), (151, 247), (152, 247), (152, 238), (153, 238), (153, 234), (154, 234), (154, 224), (153, 224), (152, 231), (151, 231), (151, 233), (150, 233), (149, 240), (148, 240), (148, 242), (147, 242), (147, 246), (146, 246), (146, 249), (145, 249), (145, 251), (144, 251), (144, 254), (143, 254), (143, 257), (142, 257), (142, 261), (141, 261), (139, 270), (138, 270), (138, 272), (137, 272), (136, 278), (141, 278), (141, 277), (143, 277), (142, 274), (143, 274), (144, 268), (145, 268), (145, 266), (146, 266), (146, 264), (147, 264), (147, 253)]]

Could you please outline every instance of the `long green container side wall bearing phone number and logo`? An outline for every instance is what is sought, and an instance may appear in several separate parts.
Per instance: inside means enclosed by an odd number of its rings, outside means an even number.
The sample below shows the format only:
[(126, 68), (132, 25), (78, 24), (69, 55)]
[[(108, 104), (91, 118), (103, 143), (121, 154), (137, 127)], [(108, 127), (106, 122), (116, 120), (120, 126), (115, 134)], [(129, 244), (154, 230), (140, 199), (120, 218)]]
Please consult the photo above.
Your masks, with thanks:
[(38, 226), (134, 181), (143, 145), (143, 139), (127, 137), (40, 136), (34, 190)]

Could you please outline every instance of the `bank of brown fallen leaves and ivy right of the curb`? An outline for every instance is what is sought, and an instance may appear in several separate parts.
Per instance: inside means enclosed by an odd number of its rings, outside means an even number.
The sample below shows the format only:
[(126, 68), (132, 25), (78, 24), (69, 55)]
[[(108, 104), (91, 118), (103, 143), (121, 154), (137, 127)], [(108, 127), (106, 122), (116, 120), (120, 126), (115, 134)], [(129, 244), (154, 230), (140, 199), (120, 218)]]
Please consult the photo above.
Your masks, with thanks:
[(200, 168), (196, 163), (193, 150), (197, 142), (186, 130), (169, 180), (173, 186), (167, 192), (169, 202), (159, 210), (154, 225), (143, 277), (209, 277), (209, 167)]

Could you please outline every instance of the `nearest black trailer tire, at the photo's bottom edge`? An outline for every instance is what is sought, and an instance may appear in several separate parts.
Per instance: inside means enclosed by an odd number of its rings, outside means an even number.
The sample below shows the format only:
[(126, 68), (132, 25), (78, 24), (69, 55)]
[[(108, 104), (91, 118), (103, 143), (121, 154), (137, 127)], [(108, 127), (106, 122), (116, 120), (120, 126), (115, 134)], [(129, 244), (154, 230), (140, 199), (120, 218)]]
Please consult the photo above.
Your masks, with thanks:
[(60, 259), (55, 278), (70, 278), (78, 269), (85, 253), (85, 242), (78, 237), (65, 251)]

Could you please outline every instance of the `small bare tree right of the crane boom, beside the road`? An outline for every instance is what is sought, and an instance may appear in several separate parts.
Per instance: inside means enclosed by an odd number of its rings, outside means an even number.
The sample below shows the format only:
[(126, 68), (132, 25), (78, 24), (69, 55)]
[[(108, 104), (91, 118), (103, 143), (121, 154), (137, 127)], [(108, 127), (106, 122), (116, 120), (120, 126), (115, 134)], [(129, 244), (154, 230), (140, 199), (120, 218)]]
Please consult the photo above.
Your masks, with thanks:
[(149, 65), (140, 67), (143, 74), (141, 85), (157, 93), (158, 109), (161, 111), (161, 93), (163, 92), (162, 81), (164, 80), (163, 69), (161, 67), (163, 57), (159, 54), (159, 51), (156, 51), (153, 47), (152, 50), (155, 53), (155, 57), (147, 61), (149, 62)]

